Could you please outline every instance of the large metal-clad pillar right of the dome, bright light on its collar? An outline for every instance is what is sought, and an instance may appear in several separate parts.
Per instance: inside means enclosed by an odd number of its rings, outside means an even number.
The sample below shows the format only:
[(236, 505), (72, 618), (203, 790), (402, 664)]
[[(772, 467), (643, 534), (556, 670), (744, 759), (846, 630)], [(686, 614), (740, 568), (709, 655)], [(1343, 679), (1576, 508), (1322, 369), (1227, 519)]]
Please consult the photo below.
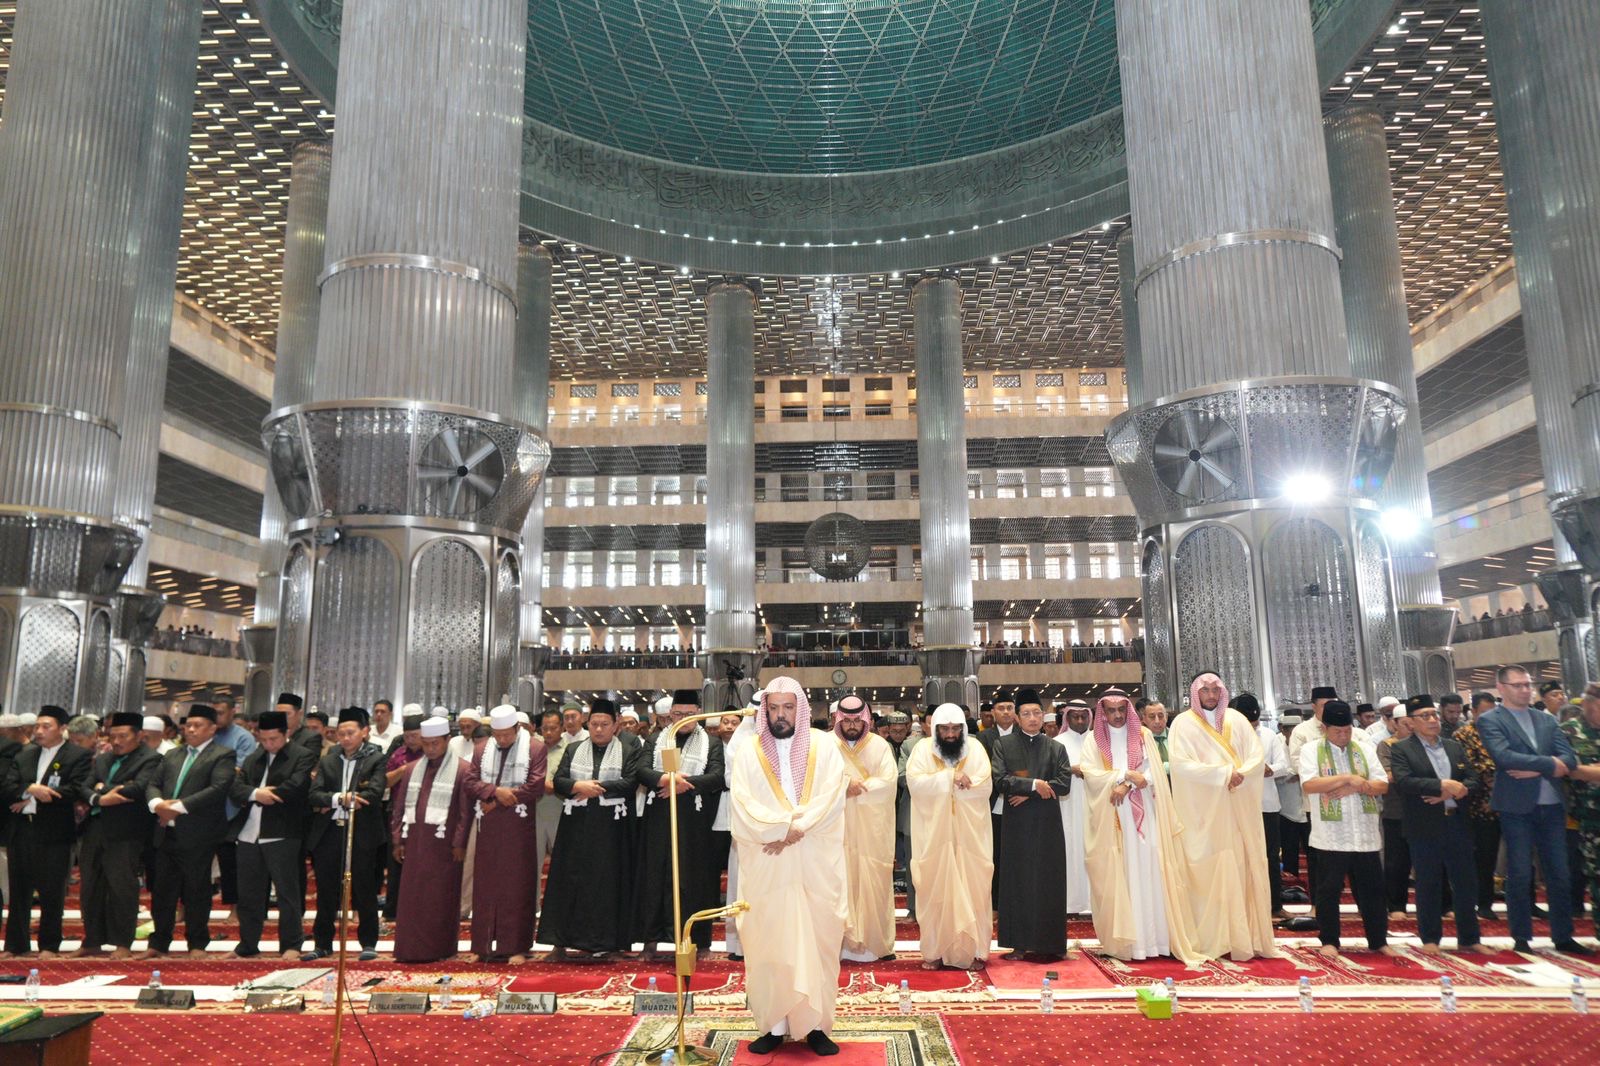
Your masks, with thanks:
[(1146, 402), (1107, 442), (1144, 527), (1146, 687), (1214, 669), (1269, 714), (1398, 693), (1373, 488), (1405, 402), (1350, 371), (1310, 13), (1118, 0), (1117, 40)]

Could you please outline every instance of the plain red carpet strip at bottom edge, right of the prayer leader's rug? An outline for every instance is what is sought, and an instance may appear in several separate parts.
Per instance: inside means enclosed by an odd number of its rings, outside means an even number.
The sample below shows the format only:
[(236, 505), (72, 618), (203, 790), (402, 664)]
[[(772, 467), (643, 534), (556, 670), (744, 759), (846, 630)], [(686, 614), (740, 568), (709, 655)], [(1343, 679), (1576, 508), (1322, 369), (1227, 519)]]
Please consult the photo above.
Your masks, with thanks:
[(1189, 1013), (1170, 1021), (1139, 1015), (950, 1015), (946, 1029), (966, 1066), (1056, 1063), (1472, 1063), (1485, 1066), (1592, 1064), (1600, 1016)]

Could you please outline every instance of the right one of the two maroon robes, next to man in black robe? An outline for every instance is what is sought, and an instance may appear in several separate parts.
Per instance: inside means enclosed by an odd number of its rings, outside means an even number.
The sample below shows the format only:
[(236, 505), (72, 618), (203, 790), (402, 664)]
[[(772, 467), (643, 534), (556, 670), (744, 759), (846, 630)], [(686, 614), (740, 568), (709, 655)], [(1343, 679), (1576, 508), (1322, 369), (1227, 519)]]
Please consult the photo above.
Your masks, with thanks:
[[(493, 738), (490, 744), (494, 744)], [(507, 749), (507, 755), (510, 751)], [(472, 879), (472, 952), (480, 959), (504, 959), (523, 956), (533, 948), (533, 925), (538, 908), (539, 871), (544, 856), (536, 847), (534, 807), (544, 795), (546, 751), (544, 741), (530, 736), (528, 776), (512, 781), (506, 759), (496, 767), (496, 776), (482, 776), (483, 752), (472, 755), (472, 765), (462, 768), (464, 791), (474, 804), (478, 823), (478, 858), (486, 860)], [(496, 787), (509, 787), (517, 795), (515, 807), (501, 807), (494, 800)]]

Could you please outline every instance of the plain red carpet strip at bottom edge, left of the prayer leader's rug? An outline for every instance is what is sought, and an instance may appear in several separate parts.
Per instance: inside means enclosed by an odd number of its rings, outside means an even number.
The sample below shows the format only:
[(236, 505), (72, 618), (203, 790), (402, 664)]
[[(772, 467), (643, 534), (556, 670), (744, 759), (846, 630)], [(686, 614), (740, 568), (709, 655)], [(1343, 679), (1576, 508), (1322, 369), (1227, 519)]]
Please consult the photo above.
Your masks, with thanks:
[[(621, 1048), (634, 1028), (627, 1016), (539, 1016), (462, 1021), (458, 1012), (421, 1018), (362, 1015), (366, 1040), (344, 1020), (342, 1063), (539, 1063), (587, 1066)], [(94, 1023), (96, 1066), (304, 1066), (330, 1061), (328, 1015), (139, 1013), (106, 1015)]]

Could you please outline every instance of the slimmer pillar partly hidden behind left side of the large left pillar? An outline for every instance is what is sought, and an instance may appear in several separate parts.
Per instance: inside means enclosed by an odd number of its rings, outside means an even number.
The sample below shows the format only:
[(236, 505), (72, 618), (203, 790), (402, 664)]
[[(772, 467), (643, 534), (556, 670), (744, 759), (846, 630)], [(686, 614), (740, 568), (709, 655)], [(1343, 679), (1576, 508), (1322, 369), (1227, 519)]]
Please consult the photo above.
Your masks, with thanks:
[[(310, 402), (317, 365), (317, 317), (322, 293), (323, 251), (328, 240), (328, 174), (333, 147), (326, 141), (301, 141), (290, 160), (290, 203), (283, 224), (283, 290), (278, 298), (278, 346), (272, 375), (272, 410)], [(296, 490), (291, 490), (291, 493)], [(296, 509), (301, 501), (294, 501)], [(256, 613), (240, 631), (245, 645), (245, 711), (272, 707), (274, 658), (278, 619), (286, 608), (291, 624), (304, 624), (310, 603), (291, 594), (283, 600), (283, 562), (288, 551), (286, 512), (275, 479), (261, 495), (261, 552), (256, 565)]]

